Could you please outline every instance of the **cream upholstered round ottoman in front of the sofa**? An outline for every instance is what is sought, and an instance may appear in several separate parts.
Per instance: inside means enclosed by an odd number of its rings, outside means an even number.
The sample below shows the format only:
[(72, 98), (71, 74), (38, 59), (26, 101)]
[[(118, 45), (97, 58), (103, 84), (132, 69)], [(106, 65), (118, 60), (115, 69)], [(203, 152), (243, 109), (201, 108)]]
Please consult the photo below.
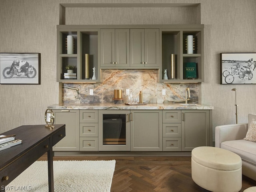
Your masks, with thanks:
[(242, 160), (216, 147), (196, 147), (191, 154), (192, 179), (213, 192), (238, 192), (242, 188)]

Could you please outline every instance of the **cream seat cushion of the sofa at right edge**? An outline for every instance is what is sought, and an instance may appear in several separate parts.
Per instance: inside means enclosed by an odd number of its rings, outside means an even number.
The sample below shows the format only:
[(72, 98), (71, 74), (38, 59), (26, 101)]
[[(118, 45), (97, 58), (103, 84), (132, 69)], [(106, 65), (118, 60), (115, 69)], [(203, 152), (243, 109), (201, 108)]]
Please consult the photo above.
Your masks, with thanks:
[(221, 148), (230, 150), (238, 154), (243, 161), (256, 166), (256, 143), (244, 139), (224, 141), (221, 143)]

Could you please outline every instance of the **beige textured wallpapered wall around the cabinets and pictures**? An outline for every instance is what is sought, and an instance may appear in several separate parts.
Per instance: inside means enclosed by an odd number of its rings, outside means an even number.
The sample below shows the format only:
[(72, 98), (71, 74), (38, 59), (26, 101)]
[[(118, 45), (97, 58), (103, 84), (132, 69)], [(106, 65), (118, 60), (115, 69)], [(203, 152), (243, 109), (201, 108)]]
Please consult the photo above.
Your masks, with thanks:
[[(256, 113), (255, 84), (220, 85), (219, 80), (221, 52), (256, 52), (255, 0), (0, 0), (0, 52), (41, 53), (41, 85), (0, 84), (0, 132), (24, 124), (44, 124), (46, 106), (58, 102), (56, 25), (59, 22), (59, 3), (72, 2), (201, 3), (201, 23), (205, 25), (205, 82), (201, 85), (200, 99), (202, 103), (215, 107), (213, 127), (235, 123), (232, 88), (237, 89), (238, 122), (247, 122), (247, 114)], [(162, 8), (163, 11), (148, 8), (146, 15), (133, 8), (130, 15), (124, 12), (125, 17), (120, 22), (118, 18), (122, 11), (118, 10), (116, 15), (110, 12), (111, 9), (101, 8), (95, 24), (165, 24), (181, 17), (176, 11), (177, 16), (170, 18), (173, 8)], [(188, 12), (193, 14), (194, 10), (188, 8)], [(111, 16), (106, 23), (102, 21), (106, 19), (105, 15)], [(87, 22), (95, 19), (78, 16), (79, 24), (92, 24)], [(195, 22), (192, 18), (186, 19)]]

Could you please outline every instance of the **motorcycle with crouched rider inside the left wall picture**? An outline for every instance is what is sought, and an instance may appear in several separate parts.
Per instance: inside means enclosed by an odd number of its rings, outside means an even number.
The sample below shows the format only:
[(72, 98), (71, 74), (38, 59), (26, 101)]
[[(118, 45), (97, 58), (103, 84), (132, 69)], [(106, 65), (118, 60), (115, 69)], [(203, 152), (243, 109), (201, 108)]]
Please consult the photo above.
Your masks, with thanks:
[(15, 61), (12, 62), (12, 65), (10, 67), (6, 67), (3, 70), (3, 76), (4, 78), (10, 79), (14, 75), (16, 76), (27, 76), (28, 78), (34, 78), (36, 76), (36, 69), (32, 65), (28, 65), (25, 67), (28, 72), (24, 72), (21, 68), (18, 67), (19, 64), (17, 64)]

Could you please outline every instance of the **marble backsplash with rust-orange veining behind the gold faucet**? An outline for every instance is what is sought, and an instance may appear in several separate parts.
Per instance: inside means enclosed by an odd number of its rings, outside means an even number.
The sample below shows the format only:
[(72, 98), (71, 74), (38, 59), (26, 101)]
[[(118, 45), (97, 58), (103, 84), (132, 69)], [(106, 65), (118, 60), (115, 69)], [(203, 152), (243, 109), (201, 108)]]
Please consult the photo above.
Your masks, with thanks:
[[(142, 91), (146, 103), (184, 102), (186, 88), (190, 88), (190, 102), (198, 102), (197, 83), (160, 83), (157, 75), (157, 70), (102, 70), (102, 82), (62, 84), (62, 102), (114, 102), (115, 89), (122, 90), (124, 102), (128, 102), (126, 89), (137, 98)], [(90, 89), (93, 89), (93, 95), (90, 95)], [(166, 95), (162, 95), (162, 89), (166, 90)]]

